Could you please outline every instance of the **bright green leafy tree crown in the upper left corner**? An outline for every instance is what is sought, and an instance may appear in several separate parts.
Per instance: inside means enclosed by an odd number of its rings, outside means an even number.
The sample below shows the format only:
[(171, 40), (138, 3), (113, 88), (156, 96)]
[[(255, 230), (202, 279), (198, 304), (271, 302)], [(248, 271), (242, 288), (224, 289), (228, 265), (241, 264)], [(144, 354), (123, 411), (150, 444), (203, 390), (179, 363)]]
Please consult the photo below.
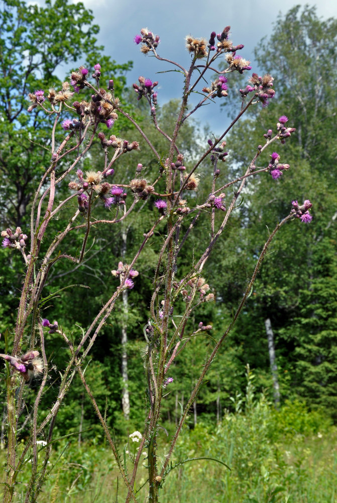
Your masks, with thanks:
[(47, 95), (54, 86), (58, 90), (57, 74), (79, 58), (89, 66), (99, 59), (104, 64), (102, 78), (116, 77), (115, 87), (121, 92), (131, 63), (116, 64), (101, 55), (103, 48), (94, 36), (99, 28), (80, 2), (47, 0), (45, 7), (39, 7), (5, 0), (0, 27), (0, 175), (6, 187), (0, 208), (3, 226), (20, 226), (52, 153), (53, 124), (41, 109), (27, 113), (28, 94), (44, 89)]

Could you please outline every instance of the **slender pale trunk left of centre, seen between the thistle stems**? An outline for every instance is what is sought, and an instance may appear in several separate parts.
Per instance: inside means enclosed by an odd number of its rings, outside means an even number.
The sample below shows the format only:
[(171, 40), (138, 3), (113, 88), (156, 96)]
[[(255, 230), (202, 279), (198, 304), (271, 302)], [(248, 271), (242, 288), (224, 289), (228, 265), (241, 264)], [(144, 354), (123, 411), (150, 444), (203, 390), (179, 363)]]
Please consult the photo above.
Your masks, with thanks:
[[(127, 250), (127, 237), (128, 232), (126, 229), (122, 231), (122, 259), (124, 259), (126, 250)], [(123, 298), (123, 314), (124, 319), (122, 320), (122, 408), (123, 414), (126, 420), (129, 420), (130, 417), (130, 397), (129, 397), (129, 375), (128, 375), (128, 353), (127, 353), (127, 344), (128, 344), (128, 331), (127, 331), (127, 319), (129, 312), (129, 304), (128, 304), (128, 290), (123, 290), (122, 292)]]

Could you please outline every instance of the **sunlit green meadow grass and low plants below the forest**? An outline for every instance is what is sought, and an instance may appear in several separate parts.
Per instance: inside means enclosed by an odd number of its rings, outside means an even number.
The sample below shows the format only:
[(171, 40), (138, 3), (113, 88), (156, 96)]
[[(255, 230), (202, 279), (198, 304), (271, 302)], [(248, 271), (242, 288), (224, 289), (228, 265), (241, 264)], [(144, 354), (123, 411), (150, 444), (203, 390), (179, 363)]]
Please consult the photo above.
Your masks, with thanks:
[[(78, 446), (75, 441), (60, 444), (51, 457), (50, 473), (39, 503), (125, 500), (116, 461), (106, 446)], [(163, 435), (163, 453), (168, 445)], [(137, 449), (137, 444), (130, 443), (129, 448)], [(123, 449), (121, 443), (122, 458)], [(5, 452), (0, 456), (4, 463)], [(201, 457), (214, 460), (193, 459)], [(132, 461), (128, 453), (126, 460), (130, 471)], [(142, 464), (137, 487), (147, 480), (146, 455)], [(28, 460), (18, 479), (15, 501), (25, 499), (30, 469)], [(148, 501), (146, 487), (145, 484), (139, 491), (139, 501)], [(244, 410), (237, 407), (236, 413), (227, 413), (217, 426), (200, 423), (193, 429), (185, 427), (160, 501), (336, 503), (336, 487), (336, 428), (324, 422), (318, 413), (308, 412), (300, 402), (288, 402), (275, 411), (263, 396), (252, 398), (251, 403), (246, 397)]]

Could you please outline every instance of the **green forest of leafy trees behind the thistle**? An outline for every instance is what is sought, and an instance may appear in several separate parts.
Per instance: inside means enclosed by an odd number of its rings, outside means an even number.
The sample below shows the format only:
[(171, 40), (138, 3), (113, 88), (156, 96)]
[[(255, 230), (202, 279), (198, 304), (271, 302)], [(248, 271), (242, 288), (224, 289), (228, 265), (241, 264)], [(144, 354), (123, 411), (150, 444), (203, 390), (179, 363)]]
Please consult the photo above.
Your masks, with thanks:
[[(16, 31), (15, 23), (11, 25), (11, 20), (6, 21), (8, 8), (13, 8), (14, 12), (19, 9), (21, 13), (21, 25)], [(2, 23), (0, 61), (0, 218), (2, 228), (21, 226), (24, 229), (37, 180), (47, 165), (47, 159), (49, 161), (45, 147), (48, 147), (52, 127), (38, 110), (30, 115), (26, 112), (27, 94), (60, 85), (60, 68), (75, 68), (82, 63), (92, 67), (98, 61), (103, 76), (114, 78), (115, 88), (125, 107), (137, 115), (157, 151), (163, 155), (165, 143), (152, 130), (146, 107), (137, 102), (134, 92), (126, 85), (126, 75), (132, 63), (116, 62), (106, 56), (96, 42), (98, 27), (94, 25), (93, 16), (81, 4), (68, 5), (65, 0), (57, 0), (38, 8), (8, 0), (2, 4), (1, 16), (8, 24)], [(159, 31), (160, 27), (154, 29)], [(5, 41), (10, 33), (14, 33), (15, 49), (6, 52)], [(295, 403), (298, 415), (305, 416), (313, 411), (312, 414), (321, 414), (319, 417), (330, 418), (331, 423), (337, 420), (336, 33), (336, 20), (322, 21), (314, 8), (294, 7), (278, 18), (272, 35), (256, 49), (259, 67), (275, 77), (277, 99), (263, 113), (254, 109), (226, 138), (229, 155), (221, 167), (221, 176), (228, 179), (241, 172), (240, 167), (250, 162), (270, 124), (282, 114), (290, 118), (289, 125), (296, 127), (292, 141), (282, 149), (291, 170), (276, 183), (271, 183), (267, 177), (251, 182), (228, 231), (220, 237), (221, 253), (214, 254), (206, 267), (206, 279), (215, 302), (208, 303), (202, 315), (192, 322), (195, 325), (200, 321), (211, 324), (212, 334), (224, 331), (268, 236), (268, 226), (282, 218), (289, 201), (295, 196), (309, 198), (314, 203), (314, 218), (308, 226), (285, 226), (273, 242), (246, 309), (217, 355), (207, 383), (194, 403), (188, 420), (191, 428), (195, 429), (198, 424), (205, 428), (207, 425), (215, 427), (230, 412), (239, 411), (245, 394), (247, 399), (247, 382), (252, 380), (252, 375), (245, 370), (247, 364), (254, 370), (255, 392), (263, 392), (267, 401), (276, 399), (276, 405), (281, 408)], [(140, 57), (137, 51), (136, 57)], [(10, 65), (13, 71), (9, 75)], [(155, 68), (154, 71), (164, 69)], [(65, 76), (67, 74), (65, 71)], [(246, 79), (247, 75), (230, 83), (230, 92), (238, 94), (238, 106), (239, 89)], [(159, 120), (164, 130), (172, 128), (176, 113), (176, 101), (163, 104)], [(231, 116), (234, 112), (225, 106), (223, 114), (226, 113)], [(148, 173), (158, 170), (157, 160), (137, 136), (137, 131), (130, 129), (123, 119), (117, 121), (114, 134), (124, 136), (126, 133), (140, 142), (141, 152), (132, 152), (130, 157), (123, 159), (123, 171), (132, 173), (138, 162), (146, 166)], [(61, 136), (62, 132), (59, 134)], [(192, 160), (212, 134), (212, 124), (205, 126), (196, 121), (187, 124), (180, 136), (180, 148), (185, 157)], [(85, 161), (84, 170), (92, 165), (99, 166), (100, 149), (97, 142), (90, 160)], [(267, 156), (265, 160), (268, 160)], [(203, 169), (206, 175), (211, 166), (205, 165)], [(115, 181), (118, 183), (117, 178)], [(196, 197), (204, 199), (202, 179)], [(119, 233), (109, 231), (95, 236), (84, 269), (77, 270), (60, 263), (45, 289), (44, 316), (58, 320), (70, 331), (77, 330), (78, 325), (86, 327), (92, 313), (106, 300), (109, 284), (114, 282), (113, 277), (106, 277), (102, 271), (115, 267), (119, 260), (128, 262), (134, 255), (142, 229), (153, 219), (153, 204), (147, 204)], [(63, 225), (64, 222), (53, 221), (56, 231)], [(195, 248), (203, 240), (202, 219), (198, 225), (198, 237), (190, 243)], [(86, 371), (99, 405), (104, 409), (107, 402), (108, 424), (121, 437), (126, 432), (141, 429), (144, 423), (145, 390), (140, 387), (144, 372), (142, 351), (145, 350), (142, 327), (148, 320), (151, 277), (160, 247), (159, 239), (158, 245), (151, 250), (153, 255), (140, 259), (138, 269), (142, 281), (124, 295), (123, 303), (111, 314), (93, 348), (91, 364)], [(76, 245), (75, 240), (67, 243), (69, 253), (76, 254)], [(101, 253), (102, 250), (109, 250), (110, 257)], [(0, 331), (5, 333), (8, 330), (10, 334), (24, 274), (20, 257), (11, 250), (3, 250), (0, 271)], [(74, 286), (64, 290), (61, 296), (52, 297), (62, 288), (65, 278), (70, 278), (70, 283), (89, 288)], [(274, 374), (266, 326), (273, 332)], [(53, 347), (50, 386), (45, 396), (50, 402), (58, 373), (62, 371), (64, 344), (57, 334), (47, 337), (48, 344)], [(4, 338), (0, 344), (4, 344)], [(203, 352), (198, 350), (199, 345), (207, 345), (207, 341), (194, 338), (172, 366), (174, 381), (170, 384), (163, 410), (163, 424), (168, 429), (177, 421), (179, 402), (184, 403), (184, 396), (194, 386), (198, 369), (202, 366), (198, 355)], [(275, 395), (275, 379), (279, 384), (280, 403), (277, 393)], [(4, 378), (1, 386), (4, 389)], [(26, 400), (23, 439), (25, 432), (28, 434), (29, 431), (30, 406), (38, 386), (38, 381), (32, 383), (31, 396)], [(41, 411), (43, 413), (43, 407)], [(316, 428), (317, 433), (318, 416), (308, 417), (315, 417), (313, 423), (316, 426), (312, 428)], [(76, 384), (75, 381), (70, 389), (59, 412), (56, 428), (60, 436), (76, 434), (79, 444), (93, 439), (96, 442), (103, 440), (80, 382)]]

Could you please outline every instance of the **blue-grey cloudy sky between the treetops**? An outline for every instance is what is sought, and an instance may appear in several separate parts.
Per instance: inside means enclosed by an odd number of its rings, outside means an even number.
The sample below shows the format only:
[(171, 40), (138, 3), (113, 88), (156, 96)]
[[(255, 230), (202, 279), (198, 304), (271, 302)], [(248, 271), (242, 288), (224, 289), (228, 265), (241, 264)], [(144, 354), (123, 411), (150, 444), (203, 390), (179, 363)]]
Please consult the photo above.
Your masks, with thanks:
[[(32, 2), (32, 3), (43, 3)], [(179, 73), (161, 73), (170, 68), (167, 63), (153, 57), (144, 56), (139, 46), (133, 42), (141, 28), (149, 28), (158, 34), (161, 43), (158, 53), (188, 66), (190, 56), (185, 49), (184, 38), (191, 34), (196, 38), (209, 38), (212, 31), (219, 33), (224, 26), (231, 26), (231, 40), (244, 44), (240, 55), (252, 63), (252, 71), (261, 71), (254, 61), (254, 48), (261, 38), (270, 36), (279, 13), (283, 15), (295, 5), (314, 3), (298, 0), (234, 0), (232, 2), (202, 2), (201, 0), (167, 0), (166, 2), (140, 2), (139, 0), (83, 0), (91, 9), (95, 22), (100, 26), (98, 42), (104, 45), (106, 54), (118, 63), (134, 62), (134, 69), (128, 75), (132, 86), (138, 76), (159, 80), (158, 100), (160, 104), (181, 96), (182, 80)], [(322, 19), (337, 18), (337, 2), (320, 0), (317, 15)], [(247, 78), (251, 72), (246, 72)], [(275, 89), (277, 86), (275, 83)], [(219, 134), (227, 124), (225, 113), (219, 112), (219, 101), (203, 107), (194, 115), (201, 123), (207, 122), (215, 134)]]

